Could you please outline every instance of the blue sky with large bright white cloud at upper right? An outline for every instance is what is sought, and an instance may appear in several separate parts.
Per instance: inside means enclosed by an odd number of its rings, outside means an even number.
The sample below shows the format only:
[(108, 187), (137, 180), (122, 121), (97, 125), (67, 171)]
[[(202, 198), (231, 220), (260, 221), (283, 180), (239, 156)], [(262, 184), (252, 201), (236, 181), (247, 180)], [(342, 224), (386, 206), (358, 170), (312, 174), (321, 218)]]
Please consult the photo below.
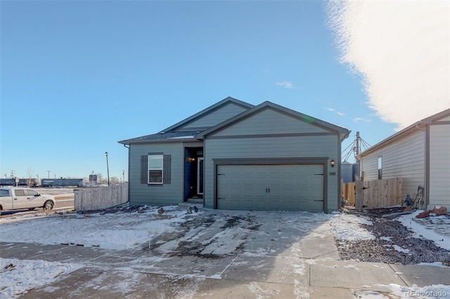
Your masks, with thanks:
[(227, 96), (344, 126), (342, 149), (449, 108), (448, 2), (372, 2), (1, 1), (0, 175), (105, 176), (109, 152), (127, 178), (117, 141)]

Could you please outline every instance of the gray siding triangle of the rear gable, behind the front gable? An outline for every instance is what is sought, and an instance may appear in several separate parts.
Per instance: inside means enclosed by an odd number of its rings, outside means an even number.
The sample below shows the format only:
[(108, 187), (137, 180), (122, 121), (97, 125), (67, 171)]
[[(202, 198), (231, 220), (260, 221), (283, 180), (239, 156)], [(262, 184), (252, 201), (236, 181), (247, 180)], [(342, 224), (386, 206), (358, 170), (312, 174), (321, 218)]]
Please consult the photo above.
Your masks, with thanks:
[(192, 121), (186, 126), (177, 128), (177, 131), (191, 130), (195, 128), (210, 128), (246, 110), (247, 109), (245, 109), (244, 107), (236, 105), (233, 102), (230, 102), (228, 105), (225, 105), (224, 107), (221, 107), (220, 109), (217, 109), (214, 112), (206, 114), (205, 116), (196, 119), (195, 121)]

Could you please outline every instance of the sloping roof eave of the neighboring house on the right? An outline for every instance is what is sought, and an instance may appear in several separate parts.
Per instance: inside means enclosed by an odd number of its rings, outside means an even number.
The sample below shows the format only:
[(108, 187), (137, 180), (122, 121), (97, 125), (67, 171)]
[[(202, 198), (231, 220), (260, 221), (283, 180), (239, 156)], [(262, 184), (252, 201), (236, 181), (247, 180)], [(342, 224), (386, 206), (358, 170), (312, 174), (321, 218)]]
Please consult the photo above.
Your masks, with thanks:
[(407, 126), (401, 131), (398, 131), (394, 135), (390, 135), (388, 138), (385, 138), (384, 140), (378, 142), (376, 145), (373, 145), (373, 147), (369, 147), (364, 152), (361, 152), (357, 157), (363, 157), (366, 154), (369, 154), (371, 152), (374, 152), (375, 150), (378, 150), (380, 148), (383, 148), (387, 145), (392, 144), (392, 142), (395, 142), (401, 138), (404, 138), (406, 135), (409, 135), (411, 133), (414, 133), (416, 131), (424, 131), (424, 127), (420, 126), (429, 126), (430, 124), (435, 123), (436, 121), (439, 121), (439, 119), (443, 119), (444, 117), (450, 116), (450, 109), (446, 109), (442, 112), (439, 112), (437, 114), (434, 114), (430, 117), (427, 117), (425, 119), (422, 119), (420, 121), (416, 121), (414, 124), (411, 124), (411, 126)]

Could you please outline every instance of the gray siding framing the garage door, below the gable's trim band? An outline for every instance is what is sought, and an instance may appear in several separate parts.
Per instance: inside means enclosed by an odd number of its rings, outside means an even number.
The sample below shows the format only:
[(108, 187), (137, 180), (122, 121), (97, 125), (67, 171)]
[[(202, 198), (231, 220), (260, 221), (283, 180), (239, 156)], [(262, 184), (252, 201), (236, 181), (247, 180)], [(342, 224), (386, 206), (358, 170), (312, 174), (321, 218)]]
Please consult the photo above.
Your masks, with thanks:
[[(226, 138), (205, 141), (205, 205), (214, 205), (213, 159), (229, 158), (285, 158), (330, 157), (338, 160), (337, 135), (276, 137), (276, 138)], [(333, 168), (335, 169), (335, 168)], [(330, 168), (328, 168), (330, 171)], [(338, 171), (336, 169), (336, 171)], [(328, 177), (328, 209), (338, 208), (338, 175)]]

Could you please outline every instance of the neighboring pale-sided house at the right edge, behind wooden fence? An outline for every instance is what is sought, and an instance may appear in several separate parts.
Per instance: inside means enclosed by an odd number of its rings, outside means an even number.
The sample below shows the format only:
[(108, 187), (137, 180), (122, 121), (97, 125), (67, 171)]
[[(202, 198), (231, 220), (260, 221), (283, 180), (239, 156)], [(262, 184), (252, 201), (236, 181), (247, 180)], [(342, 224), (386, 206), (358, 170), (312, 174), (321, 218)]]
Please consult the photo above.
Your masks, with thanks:
[(359, 166), (363, 180), (403, 178), (404, 198), (410, 194), (414, 200), (418, 194), (420, 208), (450, 208), (450, 109), (362, 152)]

